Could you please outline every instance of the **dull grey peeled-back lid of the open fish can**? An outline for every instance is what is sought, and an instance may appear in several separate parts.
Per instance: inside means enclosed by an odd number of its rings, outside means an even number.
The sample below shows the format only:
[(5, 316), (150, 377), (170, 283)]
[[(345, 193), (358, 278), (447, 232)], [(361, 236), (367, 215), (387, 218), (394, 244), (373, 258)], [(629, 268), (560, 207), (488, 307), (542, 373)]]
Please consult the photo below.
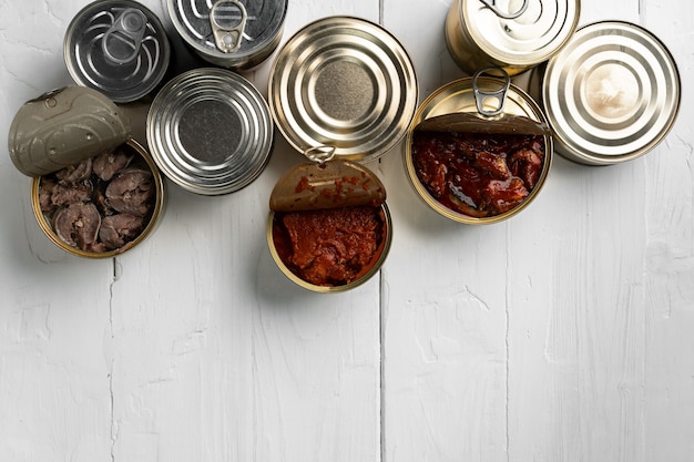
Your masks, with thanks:
[(8, 136), (10, 158), (24, 175), (58, 172), (130, 137), (130, 124), (105, 95), (65, 86), (24, 103)]

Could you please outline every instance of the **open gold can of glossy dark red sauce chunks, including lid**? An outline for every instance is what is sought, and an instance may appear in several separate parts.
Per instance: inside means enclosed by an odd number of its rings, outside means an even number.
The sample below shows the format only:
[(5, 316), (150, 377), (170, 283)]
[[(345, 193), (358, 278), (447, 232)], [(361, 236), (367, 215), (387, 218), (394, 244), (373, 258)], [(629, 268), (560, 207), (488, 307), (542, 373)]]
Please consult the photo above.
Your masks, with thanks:
[(474, 225), (528, 207), (552, 164), (552, 136), (540, 106), (509, 75), (486, 73), (431, 93), (415, 115), (404, 152), (419, 197), (445, 217)]

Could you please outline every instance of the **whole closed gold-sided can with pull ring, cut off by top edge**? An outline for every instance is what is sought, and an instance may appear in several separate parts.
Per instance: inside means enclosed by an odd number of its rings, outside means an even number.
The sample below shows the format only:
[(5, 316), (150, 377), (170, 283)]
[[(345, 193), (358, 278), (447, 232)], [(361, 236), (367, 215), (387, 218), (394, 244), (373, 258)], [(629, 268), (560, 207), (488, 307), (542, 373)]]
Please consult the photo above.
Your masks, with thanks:
[(519, 74), (550, 59), (579, 23), (580, 0), (453, 0), (445, 35), (469, 75), (501, 68)]

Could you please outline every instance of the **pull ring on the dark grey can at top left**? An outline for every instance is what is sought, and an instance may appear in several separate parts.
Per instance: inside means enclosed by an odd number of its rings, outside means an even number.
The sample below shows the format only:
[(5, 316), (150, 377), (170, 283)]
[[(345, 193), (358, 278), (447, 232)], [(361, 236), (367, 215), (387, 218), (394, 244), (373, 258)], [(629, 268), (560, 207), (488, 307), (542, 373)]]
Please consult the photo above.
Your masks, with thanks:
[(147, 30), (147, 17), (136, 8), (126, 8), (103, 34), (103, 54), (118, 64), (127, 64), (140, 54)]

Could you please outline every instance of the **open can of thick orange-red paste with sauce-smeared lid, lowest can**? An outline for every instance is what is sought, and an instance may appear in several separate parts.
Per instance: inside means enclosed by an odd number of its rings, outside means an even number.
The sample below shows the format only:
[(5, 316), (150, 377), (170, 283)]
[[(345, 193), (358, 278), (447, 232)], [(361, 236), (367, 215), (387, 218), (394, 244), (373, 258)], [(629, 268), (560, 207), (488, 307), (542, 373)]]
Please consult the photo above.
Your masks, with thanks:
[(334, 158), (333, 146), (305, 154), (312, 162), (289, 170), (271, 195), (271, 254), (305, 289), (353, 289), (378, 273), (390, 249), (386, 188), (364, 165)]

